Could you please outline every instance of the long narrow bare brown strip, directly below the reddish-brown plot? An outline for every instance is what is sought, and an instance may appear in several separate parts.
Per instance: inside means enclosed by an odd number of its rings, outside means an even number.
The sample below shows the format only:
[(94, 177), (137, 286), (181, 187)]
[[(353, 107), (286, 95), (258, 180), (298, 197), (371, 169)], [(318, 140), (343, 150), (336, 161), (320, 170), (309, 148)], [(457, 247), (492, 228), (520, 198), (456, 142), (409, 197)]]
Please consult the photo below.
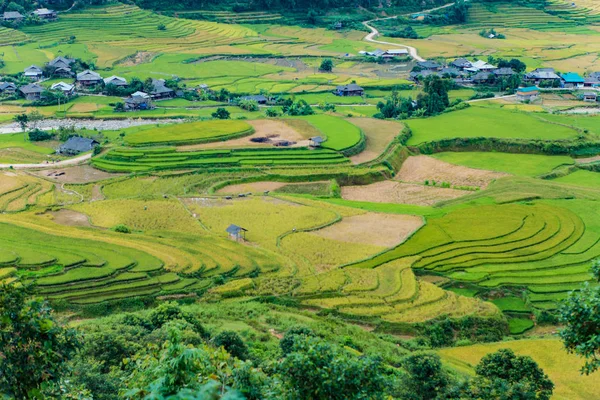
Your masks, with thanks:
[(470, 193), (472, 192), (467, 190), (444, 189), (394, 181), (342, 188), (342, 197), (346, 200), (419, 206), (432, 206), (440, 201), (456, 199)]

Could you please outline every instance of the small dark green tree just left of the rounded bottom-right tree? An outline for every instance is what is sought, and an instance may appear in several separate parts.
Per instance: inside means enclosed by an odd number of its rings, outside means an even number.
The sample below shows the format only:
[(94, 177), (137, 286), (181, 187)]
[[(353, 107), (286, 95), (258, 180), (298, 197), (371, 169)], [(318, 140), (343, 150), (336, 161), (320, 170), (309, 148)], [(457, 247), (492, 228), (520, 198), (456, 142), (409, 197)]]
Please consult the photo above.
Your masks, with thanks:
[(449, 384), (448, 375), (442, 369), (440, 356), (434, 353), (414, 354), (403, 363), (407, 377), (403, 383), (403, 397), (411, 400), (441, 398)]

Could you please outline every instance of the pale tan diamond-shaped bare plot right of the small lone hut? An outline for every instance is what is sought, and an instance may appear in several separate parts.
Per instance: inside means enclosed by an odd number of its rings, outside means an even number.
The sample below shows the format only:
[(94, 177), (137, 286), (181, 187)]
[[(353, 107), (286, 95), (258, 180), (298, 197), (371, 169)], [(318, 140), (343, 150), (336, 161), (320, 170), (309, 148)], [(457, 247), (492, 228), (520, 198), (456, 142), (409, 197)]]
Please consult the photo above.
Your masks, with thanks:
[(344, 218), (312, 233), (341, 242), (393, 247), (404, 242), (422, 225), (423, 218), (414, 215), (366, 213)]

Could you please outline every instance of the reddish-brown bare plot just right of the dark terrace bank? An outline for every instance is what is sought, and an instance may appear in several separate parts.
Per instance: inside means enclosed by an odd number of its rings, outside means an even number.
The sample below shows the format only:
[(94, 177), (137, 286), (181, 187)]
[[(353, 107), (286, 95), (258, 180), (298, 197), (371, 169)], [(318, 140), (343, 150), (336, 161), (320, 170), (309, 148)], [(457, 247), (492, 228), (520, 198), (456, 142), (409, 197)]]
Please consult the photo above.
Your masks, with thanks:
[(476, 186), (485, 188), (505, 173), (486, 171), (450, 164), (428, 156), (409, 157), (396, 180), (423, 184), (425, 181), (448, 182), (453, 186)]

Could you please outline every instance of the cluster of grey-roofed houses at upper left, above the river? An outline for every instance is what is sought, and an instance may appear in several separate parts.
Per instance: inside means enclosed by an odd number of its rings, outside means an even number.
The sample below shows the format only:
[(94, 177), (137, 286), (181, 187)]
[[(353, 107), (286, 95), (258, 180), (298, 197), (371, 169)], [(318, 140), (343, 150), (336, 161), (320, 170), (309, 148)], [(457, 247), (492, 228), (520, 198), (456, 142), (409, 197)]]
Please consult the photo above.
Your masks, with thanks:
[[(73, 79), (72, 83), (64, 81), (54, 83), (50, 90), (60, 91), (67, 97), (76, 94), (77, 89), (94, 88), (97, 86), (113, 85), (116, 87), (127, 87), (127, 79), (119, 76), (110, 76), (103, 78), (100, 74), (92, 70), (85, 70), (80, 73), (73, 71), (73, 64), (76, 61), (66, 57), (57, 57), (47, 63), (47, 67), (52, 70), (53, 77)], [(29, 101), (42, 100), (42, 94), (47, 90), (38, 82), (44, 78), (44, 70), (37, 65), (31, 65), (23, 71), (23, 76), (32, 83), (17, 87), (12, 82), (0, 82), (0, 95), (13, 95), (17, 92)], [(168, 99), (181, 96), (183, 93), (175, 91), (166, 86), (164, 79), (152, 79), (153, 90), (150, 93), (136, 92), (125, 100), (125, 110), (147, 110), (153, 108), (152, 101)]]

